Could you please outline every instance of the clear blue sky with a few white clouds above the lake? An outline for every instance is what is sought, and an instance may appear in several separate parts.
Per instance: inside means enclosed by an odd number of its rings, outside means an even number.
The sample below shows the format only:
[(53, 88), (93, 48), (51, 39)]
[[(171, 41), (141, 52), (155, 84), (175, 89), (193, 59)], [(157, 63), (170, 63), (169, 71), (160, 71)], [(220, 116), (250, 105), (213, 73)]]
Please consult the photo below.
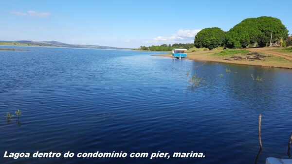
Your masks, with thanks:
[(228, 31), (257, 16), (277, 17), (292, 33), (292, 0), (5, 0), (0, 6), (0, 40), (9, 41), (191, 43), (203, 28)]

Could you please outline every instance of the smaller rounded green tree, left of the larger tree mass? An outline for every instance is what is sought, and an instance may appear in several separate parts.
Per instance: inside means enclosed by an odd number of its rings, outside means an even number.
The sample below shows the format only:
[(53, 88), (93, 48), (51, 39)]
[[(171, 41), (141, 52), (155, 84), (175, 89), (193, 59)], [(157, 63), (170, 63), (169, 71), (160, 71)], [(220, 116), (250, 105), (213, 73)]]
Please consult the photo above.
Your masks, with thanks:
[(223, 46), (225, 42), (225, 32), (218, 27), (206, 28), (195, 36), (195, 46), (197, 48), (214, 49)]

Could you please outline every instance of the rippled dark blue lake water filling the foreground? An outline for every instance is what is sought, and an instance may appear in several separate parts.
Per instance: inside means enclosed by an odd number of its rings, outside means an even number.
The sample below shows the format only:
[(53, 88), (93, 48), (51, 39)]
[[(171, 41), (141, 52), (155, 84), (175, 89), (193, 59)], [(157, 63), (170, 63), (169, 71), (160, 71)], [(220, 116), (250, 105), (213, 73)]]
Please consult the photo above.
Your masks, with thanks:
[[(0, 51), (0, 164), (254, 164), (259, 114), (257, 163), (288, 158), (292, 70), (151, 56), (162, 52), (1, 48), (28, 51)], [(6, 112), (17, 109), (19, 119), (8, 120)], [(14, 160), (5, 151), (194, 151), (205, 158)]]

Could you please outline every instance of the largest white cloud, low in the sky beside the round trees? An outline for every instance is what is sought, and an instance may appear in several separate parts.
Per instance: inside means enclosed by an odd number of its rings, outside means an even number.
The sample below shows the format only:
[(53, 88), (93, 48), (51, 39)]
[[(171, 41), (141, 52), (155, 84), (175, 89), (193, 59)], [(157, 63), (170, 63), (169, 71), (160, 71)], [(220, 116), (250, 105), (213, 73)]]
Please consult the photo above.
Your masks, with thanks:
[(187, 43), (194, 42), (195, 35), (199, 33), (201, 30), (179, 30), (177, 33), (172, 34), (171, 36), (157, 36), (150, 41), (146, 41), (146, 43)]

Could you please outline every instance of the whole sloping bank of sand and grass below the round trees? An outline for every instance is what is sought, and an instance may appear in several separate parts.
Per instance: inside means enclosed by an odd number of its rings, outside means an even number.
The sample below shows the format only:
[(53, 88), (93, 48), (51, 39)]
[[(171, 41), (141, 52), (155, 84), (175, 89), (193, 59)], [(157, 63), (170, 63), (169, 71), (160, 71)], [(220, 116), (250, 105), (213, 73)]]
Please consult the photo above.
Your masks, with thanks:
[[(265, 47), (256, 49), (201, 50), (192, 49), (187, 59), (231, 63), (251, 66), (268, 66), (292, 69), (292, 48)], [(171, 54), (160, 55), (171, 57)]]

